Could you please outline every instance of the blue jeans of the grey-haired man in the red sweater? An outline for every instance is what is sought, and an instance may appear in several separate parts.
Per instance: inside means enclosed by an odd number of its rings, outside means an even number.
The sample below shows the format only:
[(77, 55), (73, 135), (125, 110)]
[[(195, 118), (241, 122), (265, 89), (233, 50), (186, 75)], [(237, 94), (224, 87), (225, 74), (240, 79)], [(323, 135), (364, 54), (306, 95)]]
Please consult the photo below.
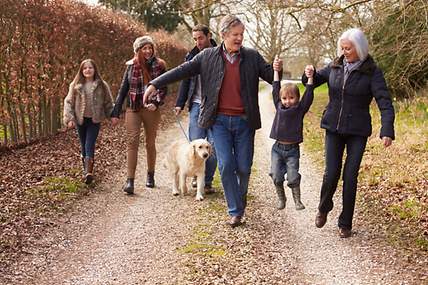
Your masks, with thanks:
[(218, 114), (211, 127), (229, 215), (243, 216), (254, 154), (254, 134), (242, 116)]

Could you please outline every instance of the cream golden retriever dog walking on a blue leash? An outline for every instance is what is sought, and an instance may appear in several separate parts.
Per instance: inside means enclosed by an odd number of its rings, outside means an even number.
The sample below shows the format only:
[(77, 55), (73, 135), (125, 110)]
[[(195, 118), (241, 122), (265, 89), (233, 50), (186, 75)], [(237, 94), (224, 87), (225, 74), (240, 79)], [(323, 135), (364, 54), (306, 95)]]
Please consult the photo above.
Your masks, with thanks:
[(205, 161), (212, 153), (211, 144), (205, 139), (189, 142), (176, 141), (171, 145), (167, 155), (167, 164), (174, 178), (172, 194), (187, 194), (187, 177), (196, 176), (196, 200), (204, 199), (202, 193), (205, 186)]

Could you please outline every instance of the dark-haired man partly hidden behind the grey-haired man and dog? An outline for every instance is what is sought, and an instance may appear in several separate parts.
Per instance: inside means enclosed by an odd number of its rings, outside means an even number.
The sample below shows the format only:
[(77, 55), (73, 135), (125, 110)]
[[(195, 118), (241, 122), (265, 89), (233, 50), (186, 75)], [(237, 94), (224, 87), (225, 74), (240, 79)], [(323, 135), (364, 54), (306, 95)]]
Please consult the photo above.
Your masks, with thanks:
[[(205, 25), (196, 25), (193, 27), (192, 36), (196, 46), (186, 55), (185, 61), (192, 60), (195, 55), (205, 48), (217, 46), (216, 42), (211, 39), (210, 30)], [(207, 128), (200, 128), (198, 126), (199, 109), (201, 106), (201, 78), (199, 75), (184, 79), (181, 82), (177, 102), (175, 104), (176, 115), (181, 113), (186, 102), (189, 106), (189, 140), (193, 141), (195, 139), (206, 138), (212, 145), (214, 145), (210, 130)], [(205, 194), (214, 193), (212, 181), (216, 168), (217, 158), (214, 151), (205, 163)], [(196, 187), (195, 184), (196, 180), (193, 179), (192, 185), (194, 187)]]

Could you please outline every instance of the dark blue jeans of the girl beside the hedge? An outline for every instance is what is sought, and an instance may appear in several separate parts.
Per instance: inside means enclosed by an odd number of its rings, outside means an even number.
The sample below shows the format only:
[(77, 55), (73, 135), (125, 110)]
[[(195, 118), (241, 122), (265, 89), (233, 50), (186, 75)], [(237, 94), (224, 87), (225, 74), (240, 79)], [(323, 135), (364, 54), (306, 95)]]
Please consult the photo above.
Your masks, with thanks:
[(95, 142), (100, 132), (100, 123), (93, 123), (92, 118), (83, 118), (83, 124), (76, 124), (82, 157), (94, 158)]

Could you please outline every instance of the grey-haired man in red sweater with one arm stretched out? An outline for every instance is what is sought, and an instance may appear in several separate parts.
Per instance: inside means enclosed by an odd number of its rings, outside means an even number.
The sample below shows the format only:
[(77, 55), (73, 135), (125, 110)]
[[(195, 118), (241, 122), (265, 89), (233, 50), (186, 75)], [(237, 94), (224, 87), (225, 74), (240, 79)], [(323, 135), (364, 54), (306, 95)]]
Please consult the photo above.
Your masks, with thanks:
[[(148, 98), (161, 86), (200, 75), (198, 123), (202, 128), (211, 128), (213, 134), (232, 227), (241, 224), (245, 212), (254, 134), (261, 127), (259, 78), (270, 84), (273, 81), (272, 65), (256, 50), (242, 46), (244, 31), (239, 18), (225, 16), (220, 23), (220, 46), (204, 49), (191, 61), (151, 81), (144, 94)], [(282, 65), (282, 61), (275, 65)]]

